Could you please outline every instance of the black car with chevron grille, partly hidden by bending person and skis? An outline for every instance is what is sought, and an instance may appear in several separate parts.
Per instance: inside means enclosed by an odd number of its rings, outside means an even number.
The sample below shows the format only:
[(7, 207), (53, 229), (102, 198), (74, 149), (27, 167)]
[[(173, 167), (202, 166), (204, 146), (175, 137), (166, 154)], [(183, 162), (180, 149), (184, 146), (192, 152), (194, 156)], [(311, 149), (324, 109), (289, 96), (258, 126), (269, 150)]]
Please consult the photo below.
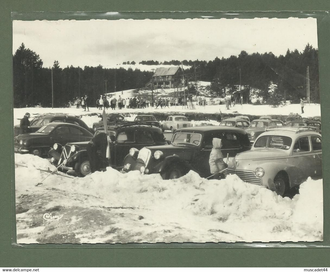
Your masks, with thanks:
[[(95, 136), (101, 132), (105, 132), (104, 127), (98, 128), (95, 132)], [(129, 150), (132, 148), (140, 150), (147, 146), (167, 145), (160, 128), (147, 124), (138, 124), (136, 122), (110, 124), (108, 125), (108, 135), (114, 142), (114, 145), (112, 145), (110, 149), (111, 158), (110, 161), (105, 161), (101, 156), (98, 156), (97, 165), (99, 169), (104, 169), (108, 166), (121, 169), (126, 154), (129, 153)], [(86, 150), (87, 144), (88, 142), (75, 143), (71, 141), (65, 146), (54, 145), (49, 151), (49, 155), (52, 157), (51, 163), (59, 166), (67, 159), (67, 162), (59, 168), (60, 171), (66, 172), (68, 170), (75, 170), (78, 176), (88, 175), (90, 173), (90, 164)], [(98, 151), (98, 153), (101, 154), (101, 151)]]

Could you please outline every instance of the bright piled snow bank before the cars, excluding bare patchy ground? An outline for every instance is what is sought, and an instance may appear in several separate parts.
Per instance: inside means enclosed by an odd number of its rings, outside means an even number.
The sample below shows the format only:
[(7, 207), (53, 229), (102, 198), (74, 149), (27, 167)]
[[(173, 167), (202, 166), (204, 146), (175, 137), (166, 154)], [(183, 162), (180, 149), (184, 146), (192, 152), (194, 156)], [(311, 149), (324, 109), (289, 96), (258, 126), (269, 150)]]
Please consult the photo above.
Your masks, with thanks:
[[(245, 183), (236, 175), (220, 181), (206, 180), (192, 171), (180, 179), (162, 180), (158, 174), (141, 175), (139, 171), (121, 174), (108, 168), (84, 178), (50, 176), (44, 186), (34, 187), (45, 176), (34, 168), (49, 167), (49, 162), (20, 154), (15, 154), (15, 160), (29, 165), (28, 171), (23, 167), (15, 169), (16, 197), (60, 191), (69, 195), (62, 204), (67, 207), (132, 207), (148, 219), (147, 225), (152, 225), (153, 231), (171, 233), (166, 240), (160, 236), (151, 238), (146, 233), (143, 241), (266, 242), (323, 238), (322, 180), (309, 179), (293, 199)], [(76, 195), (82, 195), (84, 201)], [(55, 197), (60, 201), (64, 196)], [(117, 225), (131, 231), (138, 228), (125, 222), (119, 221)], [(141, 226), (142, 233), (145, 228), (145, 224)], [(182, 229), (186, 230), (183, 236)]]

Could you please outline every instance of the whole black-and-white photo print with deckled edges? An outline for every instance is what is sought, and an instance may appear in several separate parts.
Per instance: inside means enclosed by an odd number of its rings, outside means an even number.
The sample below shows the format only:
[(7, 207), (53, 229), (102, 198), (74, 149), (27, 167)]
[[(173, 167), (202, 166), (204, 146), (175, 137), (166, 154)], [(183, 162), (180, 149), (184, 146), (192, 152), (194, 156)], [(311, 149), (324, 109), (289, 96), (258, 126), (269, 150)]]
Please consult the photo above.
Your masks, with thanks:
[(12, 28), (17, 244), (323, 241), (315, 18)]

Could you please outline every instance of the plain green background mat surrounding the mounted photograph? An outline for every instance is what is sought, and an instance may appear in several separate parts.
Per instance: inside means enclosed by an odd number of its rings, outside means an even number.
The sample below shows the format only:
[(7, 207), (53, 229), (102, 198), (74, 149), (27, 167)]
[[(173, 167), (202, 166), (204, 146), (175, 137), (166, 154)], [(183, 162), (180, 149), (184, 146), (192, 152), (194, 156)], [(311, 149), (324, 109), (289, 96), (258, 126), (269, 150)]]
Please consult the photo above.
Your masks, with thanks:
[[(291, 3), (292, 2), (292, 3)], [(318, 50), (321, 87), (321, 115), (323, 119), (323, 157), (330, 162), (330, 15), (304, 11), (330, 10), (330, 1), (1, 1), (0, 21), (0, 267), (60, 267), (60, 266), (206, 266), (206, 267), (329, 267), (330, 261), (330, 171), (329, 163), (323, 164), (324, 188), (324, 242), (323, 243), (284, 243), (258, 244), (156, 244), (111, 246), (91, 248), (85, 245), (72, 245), (73, 248), (12, 247), (12, 233), (15, 233), (15, 211), (12, 180), (13, 139), (12, 139), (12, 25), (11, 12), (26, 11), (259, 11), (245, 13), (248, 17), (317, 17)], [(301, 13), (263, 13), (262, 11), (302, 11)], [(192, 17), (197, 17), (194, 13)], [(165, 15), (165, 14), (164, 14)], [(58, 14), (43, 13), (39, 19), (59, 19)], [(89, 15), (88, 15), (89, 16)], [(93, 17), (84, 17), (89, 19)], [(180, 18), (174, 13), (173, 18)], [(185, 15), (186, 16), (186, 15)], [(128, 17), (131, 17), (128, 14)], [(17, 17), (16, 17), (17, 18)], [(143, 18), (143, 17), (139, 17)], [(10, 144), (9, 144), (10, 143)], [(14, 230), (12, 229), (14, 228)], [(254, 244), (256, 245), (256, 244)], [(91, 245), (95, 247), (95, 245)], [(97, 245), (99, 246), (99, 245)], [(102, 246), (102, 245), (100, 245)], [(273, 248), (274, 246), (282, 248)], [(302, 246), (309, 248), (291, 248)], [(125, 248), (124, 248), (125, 247)], [(127, 248), (131, 247), (131, 248)], [(183, 248), (182, 248), (183, 247)], [(225, 248), (229, 247), (229, 248)], [(234, 247), (234, 248), (233, 248)], [(238, 248), (240, 247), (240, 248)], [(242, 248), (245, 247), (245, 248)], [(262, 248), (267, 247), (267, 248)], [(318, 248), (314, 248), (318, 247)], [(328, 247), (328, 248), (320, 248)]]

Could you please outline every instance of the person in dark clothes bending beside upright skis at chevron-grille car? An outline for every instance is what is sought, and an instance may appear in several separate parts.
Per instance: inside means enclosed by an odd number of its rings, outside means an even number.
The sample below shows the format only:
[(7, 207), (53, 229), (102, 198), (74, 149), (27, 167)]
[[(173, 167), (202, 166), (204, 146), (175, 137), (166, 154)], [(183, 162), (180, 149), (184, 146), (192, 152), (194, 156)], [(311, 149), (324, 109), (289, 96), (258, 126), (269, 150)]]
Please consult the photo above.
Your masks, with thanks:
[(104, 132), (101, 132), (94, 136), (87, 144), (87, 154), (89, 158), (90, 170), (92, 173), (99, 171), (100, 167), (97, 165), (97, 151), (101, 151), (101, 156), (106, 160), (108, 146), (108, 136)]

